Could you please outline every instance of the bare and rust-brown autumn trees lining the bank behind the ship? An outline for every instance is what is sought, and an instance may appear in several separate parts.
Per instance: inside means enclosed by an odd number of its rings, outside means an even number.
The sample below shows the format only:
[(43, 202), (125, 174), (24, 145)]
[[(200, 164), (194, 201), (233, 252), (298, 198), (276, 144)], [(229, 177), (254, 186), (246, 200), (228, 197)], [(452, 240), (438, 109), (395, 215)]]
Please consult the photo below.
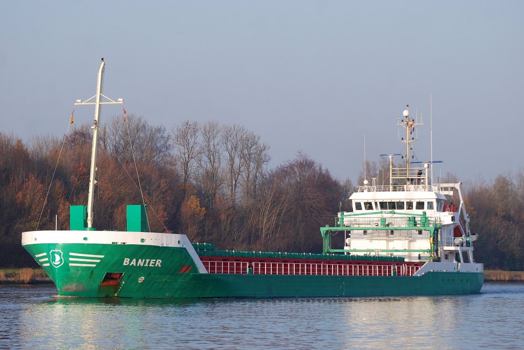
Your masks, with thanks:
[[(87, 203), (91, 142), (89, 125), (27, 143), (0, 132), (0, 267), (36, 266), (21, 232), (69, 229), (69, 206)], [(184, 121), (168, 130), (113, 116), (99, 143), (97, 230), (125, 230), (126, 206), (145, 203), (152, 232), (217, 249), (321, 252), (320, 226), (333, 224), (341, 205), (350, 210), (351, 180), (300, 152), (270, 168), (269, 145), (241, 125)], [(386, 166), (368, 162), (367, 177), (385, 182)], [(465, 189), (476, 260), (524, 270), (524, 174)]]

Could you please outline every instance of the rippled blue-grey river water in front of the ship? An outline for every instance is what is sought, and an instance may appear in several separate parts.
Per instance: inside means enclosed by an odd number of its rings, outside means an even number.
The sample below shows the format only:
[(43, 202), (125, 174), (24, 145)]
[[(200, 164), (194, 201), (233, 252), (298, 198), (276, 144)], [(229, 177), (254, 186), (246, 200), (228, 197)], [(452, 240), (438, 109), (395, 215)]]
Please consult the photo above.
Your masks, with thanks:
[(0, 286), (0, 349), (524, 349), (524, 284), (470, 296), (56, 299)]

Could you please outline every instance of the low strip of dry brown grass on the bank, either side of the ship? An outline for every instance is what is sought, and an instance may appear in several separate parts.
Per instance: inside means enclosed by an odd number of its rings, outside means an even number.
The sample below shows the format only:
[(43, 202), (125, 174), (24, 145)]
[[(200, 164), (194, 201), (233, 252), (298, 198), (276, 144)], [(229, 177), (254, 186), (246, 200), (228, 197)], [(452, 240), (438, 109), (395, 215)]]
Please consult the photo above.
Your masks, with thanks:
[[(485, 270), (485, 282), (524, 282), (524, 271)], [(0, 268), (0, 285), (52, 283), (41, 268)]]

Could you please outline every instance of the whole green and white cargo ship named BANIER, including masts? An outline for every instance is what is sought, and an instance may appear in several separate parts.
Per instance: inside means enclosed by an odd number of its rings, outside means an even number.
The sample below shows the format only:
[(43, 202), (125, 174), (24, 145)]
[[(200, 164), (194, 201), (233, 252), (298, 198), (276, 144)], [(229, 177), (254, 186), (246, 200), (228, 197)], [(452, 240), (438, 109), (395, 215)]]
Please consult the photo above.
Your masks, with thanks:
[[(351, 210), (320, 228), (322, 254), (216, 250), (184, 234), (147, 230), (144, 205), (127, 206), (127, 231), (93, 227), (102, 59), (95, 105), (89, 198), (71, 206), (69, 230), (23, 232), (21, 244), (45, 270), (59, 296), (110, 298), (282, 298), (470, 294), (481, 290), (484, 266), (473, 259), (470, 219), (461, 183), (433, 184), (434, 163), (410, 161), (418, 123), (403, 111), (402, 166), (389, 157), (389, 183), (364, 180)], [(404, 131), (402, 131), (404, 132)], [(457, 205), (453, 205), (453, 202)], [(334, 247), (335, 234), (344, 235)]]

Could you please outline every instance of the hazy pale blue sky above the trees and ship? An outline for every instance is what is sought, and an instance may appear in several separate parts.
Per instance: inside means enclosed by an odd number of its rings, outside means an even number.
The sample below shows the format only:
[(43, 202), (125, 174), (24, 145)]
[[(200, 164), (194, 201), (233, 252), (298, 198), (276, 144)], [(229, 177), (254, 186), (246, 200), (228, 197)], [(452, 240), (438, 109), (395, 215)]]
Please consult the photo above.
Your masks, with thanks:
[[(524, 163), (522, 1), (52, 1), (2, 3), (0, 131), (62, 136), (75, 99), (104, 94), (170, 129), (238, 123), (271, 166), (302, 150), (354, 182), (399, 152), (397, 118), (424, 115), (415, 151), (435, 174), (492, 179)], [(121, 113), (103, 108), (102, 116)], [(75, 124), (93, 109), (75, 110)]]

